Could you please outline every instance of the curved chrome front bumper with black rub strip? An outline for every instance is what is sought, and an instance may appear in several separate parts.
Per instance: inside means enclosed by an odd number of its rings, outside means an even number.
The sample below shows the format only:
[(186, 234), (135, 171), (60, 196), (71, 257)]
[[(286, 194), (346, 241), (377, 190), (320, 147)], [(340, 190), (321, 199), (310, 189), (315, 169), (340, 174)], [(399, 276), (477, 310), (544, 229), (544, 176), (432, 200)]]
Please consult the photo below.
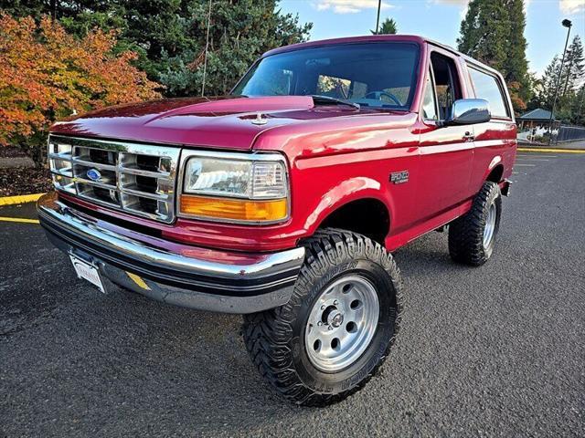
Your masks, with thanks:
[(48, 238), (113, 284), (186, 308), (254, 313), (287, 303), (304, 248), (242, 254), (175, 244), (96, 219), (48, 193), (37, 203)]

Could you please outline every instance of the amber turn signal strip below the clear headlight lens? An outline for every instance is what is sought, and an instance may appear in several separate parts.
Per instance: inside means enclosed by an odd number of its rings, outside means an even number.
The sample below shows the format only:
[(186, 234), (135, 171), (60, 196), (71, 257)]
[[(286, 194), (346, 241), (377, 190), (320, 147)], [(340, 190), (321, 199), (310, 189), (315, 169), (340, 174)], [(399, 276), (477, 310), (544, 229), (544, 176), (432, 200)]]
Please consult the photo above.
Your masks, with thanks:
[(288, 215), (286, 198), (252, 201), (184, 194), (181, 196), (180, 210), (182, 214), (201, 218), (246, 222), (276, 222), (286, 219)]

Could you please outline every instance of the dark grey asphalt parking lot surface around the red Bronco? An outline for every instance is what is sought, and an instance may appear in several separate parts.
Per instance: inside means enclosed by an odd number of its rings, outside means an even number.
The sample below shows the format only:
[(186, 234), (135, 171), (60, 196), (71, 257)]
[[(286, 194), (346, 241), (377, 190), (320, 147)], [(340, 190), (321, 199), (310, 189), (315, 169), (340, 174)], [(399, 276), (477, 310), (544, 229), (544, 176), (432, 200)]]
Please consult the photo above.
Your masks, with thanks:
[(104, 296), (37, 224), (0, 222), (0, 436), (584, 436), (585, 154), (519, 152), (512, 179), (485, 266), (440, 233), (395, 254), (399, 340), (325, 409), (271, 393), (240, 317)]

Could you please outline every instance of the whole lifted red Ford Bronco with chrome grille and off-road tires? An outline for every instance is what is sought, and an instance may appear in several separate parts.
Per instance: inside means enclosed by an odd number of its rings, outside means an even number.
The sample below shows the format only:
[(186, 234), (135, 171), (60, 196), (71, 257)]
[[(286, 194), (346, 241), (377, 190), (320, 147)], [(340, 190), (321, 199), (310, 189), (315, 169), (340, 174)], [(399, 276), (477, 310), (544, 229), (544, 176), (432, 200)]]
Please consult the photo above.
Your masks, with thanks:
[(81, 278), (244, 315), (284, 397), (363, 387), (399, 330), (391, 251), (449, 228), (492, 256), (516, 123), (494, 69), (418, 36), (264, 54), (231, 94), (99, 110), (53, 126), (38, 202)]

